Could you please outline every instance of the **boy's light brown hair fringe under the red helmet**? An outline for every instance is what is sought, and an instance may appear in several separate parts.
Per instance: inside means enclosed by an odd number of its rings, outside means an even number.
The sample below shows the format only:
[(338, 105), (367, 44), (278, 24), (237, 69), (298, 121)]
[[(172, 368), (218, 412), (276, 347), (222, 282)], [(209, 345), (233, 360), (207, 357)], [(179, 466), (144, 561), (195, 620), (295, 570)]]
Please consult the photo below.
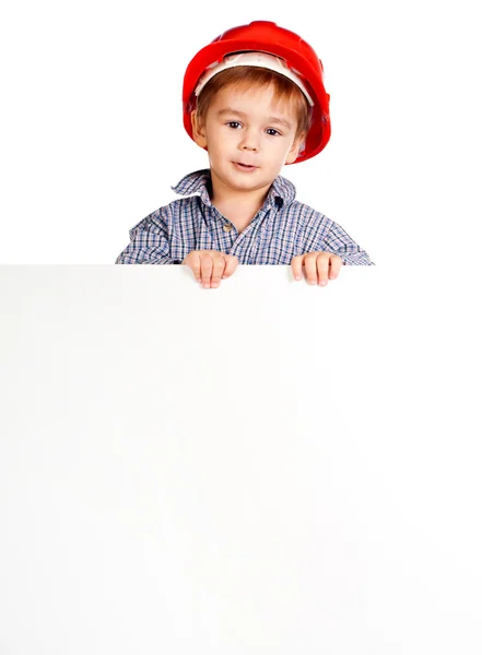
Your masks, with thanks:
[(252, 86), (266, 87), (270, 84), (274, 87), (274, 97), (279, 102), (292, 103), (298, 124), (295, 140), (303, 132), (309, 130), (311, 120), (311, 109), (308, 102), (298, 86), (284, 75), (275, 73), (269, 69), (252, 66), (237, 66), (226, 69), (211, 78), (201, 91), (197, 104), (197, 118), (202, 124), (205, 121), (208, 109), (214, 100), (216, 94), (226, 86), (234, 86), (239, 91), (247, 91)]

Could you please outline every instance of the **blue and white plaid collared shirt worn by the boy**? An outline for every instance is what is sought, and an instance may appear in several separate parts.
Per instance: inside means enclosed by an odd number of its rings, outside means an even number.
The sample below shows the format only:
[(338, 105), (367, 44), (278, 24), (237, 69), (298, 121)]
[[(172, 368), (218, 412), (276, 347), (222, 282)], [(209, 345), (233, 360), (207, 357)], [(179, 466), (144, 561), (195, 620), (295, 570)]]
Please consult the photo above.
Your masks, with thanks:
[(218, 250), (239, 264), (291, 264), (297, 254), (328, 251), (344, 264), (368, 264), (367, 253), (333, 221), (295, 200), (292, 182), (278, 176), (264, 204), (239, 234), (211, 203), (209, 169), (184, 177), (174, 200), (138, 223), (116, 264), (180, 264), (191, 250)]

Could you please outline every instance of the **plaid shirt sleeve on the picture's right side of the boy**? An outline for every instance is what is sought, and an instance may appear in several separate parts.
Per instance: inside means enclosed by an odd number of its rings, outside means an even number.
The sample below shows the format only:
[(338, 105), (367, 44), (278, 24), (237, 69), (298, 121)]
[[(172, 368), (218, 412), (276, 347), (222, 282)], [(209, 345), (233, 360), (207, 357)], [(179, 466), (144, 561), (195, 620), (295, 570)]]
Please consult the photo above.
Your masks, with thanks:
[(317, 217), (320, 218), (319, 225), (315, 221), (307, 230), (306, 252), (331, 252), (338, 254), (343, 264), (375, 265), (367, 252), (340, 225), (322, 214)]

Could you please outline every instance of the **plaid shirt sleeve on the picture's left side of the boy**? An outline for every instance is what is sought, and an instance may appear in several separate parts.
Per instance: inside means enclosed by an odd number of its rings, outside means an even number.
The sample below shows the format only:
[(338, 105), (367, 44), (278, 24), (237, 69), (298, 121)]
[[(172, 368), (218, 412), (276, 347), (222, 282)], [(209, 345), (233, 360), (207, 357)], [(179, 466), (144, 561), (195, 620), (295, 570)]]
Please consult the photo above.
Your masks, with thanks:
[(129, 230), (130, 243), (116, 264), (180, 264), (171, 258), (171, 243), (162, 209), (143, 218)]

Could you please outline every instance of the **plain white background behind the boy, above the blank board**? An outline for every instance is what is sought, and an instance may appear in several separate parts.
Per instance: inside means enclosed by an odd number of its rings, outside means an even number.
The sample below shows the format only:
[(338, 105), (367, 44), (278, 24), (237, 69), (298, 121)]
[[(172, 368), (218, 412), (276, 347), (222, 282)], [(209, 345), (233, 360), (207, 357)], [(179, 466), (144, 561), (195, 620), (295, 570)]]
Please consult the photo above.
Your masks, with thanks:
[(450, 262), (480, 235), (480, 38), (474, 2), (5, 2), (1, 263), (114, 263), (128, 230), (207, 154), (185, 133), (193, 55), (251, 20), (318, 52), (332, 138), (284, 167), (297, 198), (378, 264)]

